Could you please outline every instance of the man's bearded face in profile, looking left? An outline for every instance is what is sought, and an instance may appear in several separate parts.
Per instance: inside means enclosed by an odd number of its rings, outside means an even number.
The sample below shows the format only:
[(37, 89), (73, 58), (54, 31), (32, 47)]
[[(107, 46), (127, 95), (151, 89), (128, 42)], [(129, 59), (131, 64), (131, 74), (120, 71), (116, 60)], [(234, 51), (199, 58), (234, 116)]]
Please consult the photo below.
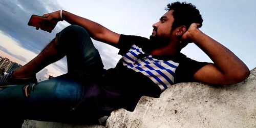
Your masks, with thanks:
[(170, 10), (160, 18), (159, 22), (153, 24), (153, 32), (150, 36), (153, 47), (162, 48), (168, 45), (173, 38), (173, 22), (173, 10)]

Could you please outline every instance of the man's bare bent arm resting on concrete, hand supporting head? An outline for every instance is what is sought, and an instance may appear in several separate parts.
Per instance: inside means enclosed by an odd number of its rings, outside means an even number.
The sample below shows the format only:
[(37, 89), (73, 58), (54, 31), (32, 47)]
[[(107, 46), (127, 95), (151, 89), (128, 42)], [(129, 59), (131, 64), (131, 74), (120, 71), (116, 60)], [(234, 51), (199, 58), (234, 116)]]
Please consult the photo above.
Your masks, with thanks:
[(249, 76), (250, 71), (245, 63), (219, 42), (201, 32), (197, 24), (189, 27), (183, 39), (193, 41), (214, 62), (198, 70), (194, 74), (195, 80), (213, 84), (234, 84)]

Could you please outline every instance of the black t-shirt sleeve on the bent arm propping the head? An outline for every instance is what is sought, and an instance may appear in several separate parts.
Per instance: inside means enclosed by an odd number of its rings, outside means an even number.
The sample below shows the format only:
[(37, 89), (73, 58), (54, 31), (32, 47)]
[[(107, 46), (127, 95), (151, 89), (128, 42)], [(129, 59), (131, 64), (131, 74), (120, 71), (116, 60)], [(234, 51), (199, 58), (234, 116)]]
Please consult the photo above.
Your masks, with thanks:
[(190, 58), (180, 62), (175, 71), (174, 83), (193, 82), (193, 75), (202, 67), (209, 64), (208, 62), (199, 62)]

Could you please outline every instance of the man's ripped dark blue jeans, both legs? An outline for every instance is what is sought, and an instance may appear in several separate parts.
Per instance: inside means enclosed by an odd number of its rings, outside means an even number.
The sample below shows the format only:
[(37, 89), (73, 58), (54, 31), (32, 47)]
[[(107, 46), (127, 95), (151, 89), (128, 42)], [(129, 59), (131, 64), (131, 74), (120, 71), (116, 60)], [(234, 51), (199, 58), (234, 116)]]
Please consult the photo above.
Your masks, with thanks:
[[(98, 82), (104, 70), (90, 35), (82, 27), (72, 25), (56, 38), (57, 47), (67, 55), (68, 73), (31, 84), (29, 97), (23, 92), (24, 85), (0, 91), (1, 114), (5, 110), (3, 113), (19, 119), (77, 123), (94, 123), (104, 116), (100, 104), (92, 100), (103, 97)], [(3, 118), (3, 114), (1, 116)], [(14, 122), (13, 117), (11, 122)]]

